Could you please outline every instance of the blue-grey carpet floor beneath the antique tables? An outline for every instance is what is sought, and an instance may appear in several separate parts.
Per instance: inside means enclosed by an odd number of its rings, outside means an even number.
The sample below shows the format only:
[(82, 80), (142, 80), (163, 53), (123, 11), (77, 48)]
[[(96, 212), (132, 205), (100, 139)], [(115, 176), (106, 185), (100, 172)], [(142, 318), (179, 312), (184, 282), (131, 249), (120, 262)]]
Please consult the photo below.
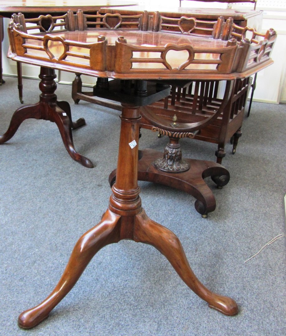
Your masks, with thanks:
[[(20, 107), (16, 79), (0, 88), (0, 134)], [(24, 80), (24, 103), (38, 101), (38, 81)], [(26, 120), (0, 146), (0, 335), (285, 335), (286, 105), (253, 103), (237, 153), (223, 165), (222, 190), (207, 179), (216, 210), (207, 219), (194, 198), (139, 182), (147, 215), (181, 240), (196, 276), (210, 290), (233, 297), (239, 314), (210, 309), (182, 282), (156, 249), (133, 241), (103, 248), (47, 320), (25, 331), (19, 313), (41, 302), (60, 279), (77, 239), (98, 223), (111, 194), (119, 112), (71, 99), (76, 150), (96, 165), (87, 169), (66, 152), (55, 124)], [(142, 130), (140, 148), (165, 148), (166, 137)], [(185, 157), (214, 160), (216, 145), (183, 139)]]

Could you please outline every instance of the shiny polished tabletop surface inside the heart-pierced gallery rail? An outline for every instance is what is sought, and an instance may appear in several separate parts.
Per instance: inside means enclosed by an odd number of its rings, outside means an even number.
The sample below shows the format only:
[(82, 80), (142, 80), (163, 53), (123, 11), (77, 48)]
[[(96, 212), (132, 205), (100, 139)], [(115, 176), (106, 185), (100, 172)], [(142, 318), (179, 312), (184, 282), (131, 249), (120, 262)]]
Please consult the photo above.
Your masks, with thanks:
[[(179, 35), (174, 33), (170, 34), (162, 34), (160, 32), (130, 32), (124, 30), (100, 30), (100, 31), (84, 31), (84, 32), (60, 32), (53, 33), (53, 39), (49, 41), (47, 47), (51, 54), (53, 54), (56, 58), (61, 57), (61, 55), (65, 52), (63, 43), (57, 40), (64, 40), (66, 44), (70, 43), (69, 53), (77, 54), (77, 55), (85, 55), (86, 54), (86, 44), (92, 44), (94, 41), (97, 41), (100, 36), (105, 36), (107, 40), (107, 44), (109, 45), (110, 52), (112, 48), (115, 49), (115, 42), (118, 40), (119, 36), (123, 36), (124, 39), (128, 41), (128, 44), (132, 44), (138, 48), (138, 51), (133, 52), (133, 56), (137, 57), (140, 62), (136, 64), (138, 70), (139, 69), (166, 69), (163, 63), (153, 63), (150, 62), (149, 59), (157, 58), (159, 59), (161, 51), (156, 51), (154, 48), (164, 48), (166, 45), (187, 45), (191, 44), (194, 50), (197, 50), (198, 53), (195, 54), (195, 58), (197, 60), (201, 60), (201, 64), (196, 63), (187, 66), (185, 69), (195, 69), (197, 70), (214, 70), (216, 69), (218, 63), (220, 62), (220, 53), (218, 49), (223, 49), (227, 46), (227, 41), (222, 40), (214, 40), (210, 38), (197, 37), (197, 36), (188, 36), (188, 35)], [(81, 46), (72, 45), (72, 41), (78, 41)], [(29, 45), (41, 46), (41, 41), (38, 40), (29, 40), (27, 41)], [(139, 51), (139, 49), (145, 48), (144, 51)], [(150, 49), (151, 51), (148, 51)], [(199, 52), (199, 51), (208, 51)], [(31, 51), (30, 51), (31, 53)], [(46, 56), (46, 52), (43, 50), (33, 50), (34, 55), (43, 55)], [(91, 56), (92, 57), (92, 56)], [(106, 57), (110, 57), (106, 55)], [(189, 52), (187, 50), (173, 50), (170, 49), (166, 54), (166, 60), (172, 66), (172, 68), (177, 68), (181, 64), (183, 64), (189, 57)], [(145, 59), (146, 61), (142, 62), (141, 60)], [(78, 63), (79, 60), (76, 59), (75, 56), (67, 56), (65, 58), (66, 61), (71, 61), (74, 63)], [(80, 63), (89, 65), (90, 59), (81, 58)], [(74, 64), (75, 66), (75, 64)], [(80, 67), (80, 65), (79, 65)], [(102, 76), (102, 75), (101, 75)], [(108, 76), (108, 75), (107, 75)], [(126, 75), (124, 75), (126, 76)], [(144, 76), (144, 75), (143, 75)], [(148, 77), (150, 74), (148, 74)], [(156, 74), (153, 75), (156, 78)], [(113, 77), (119, 78), (122, 77), (119, 74), (114, 74)], [(127, 77), (124, 77), (127, 78)]]

